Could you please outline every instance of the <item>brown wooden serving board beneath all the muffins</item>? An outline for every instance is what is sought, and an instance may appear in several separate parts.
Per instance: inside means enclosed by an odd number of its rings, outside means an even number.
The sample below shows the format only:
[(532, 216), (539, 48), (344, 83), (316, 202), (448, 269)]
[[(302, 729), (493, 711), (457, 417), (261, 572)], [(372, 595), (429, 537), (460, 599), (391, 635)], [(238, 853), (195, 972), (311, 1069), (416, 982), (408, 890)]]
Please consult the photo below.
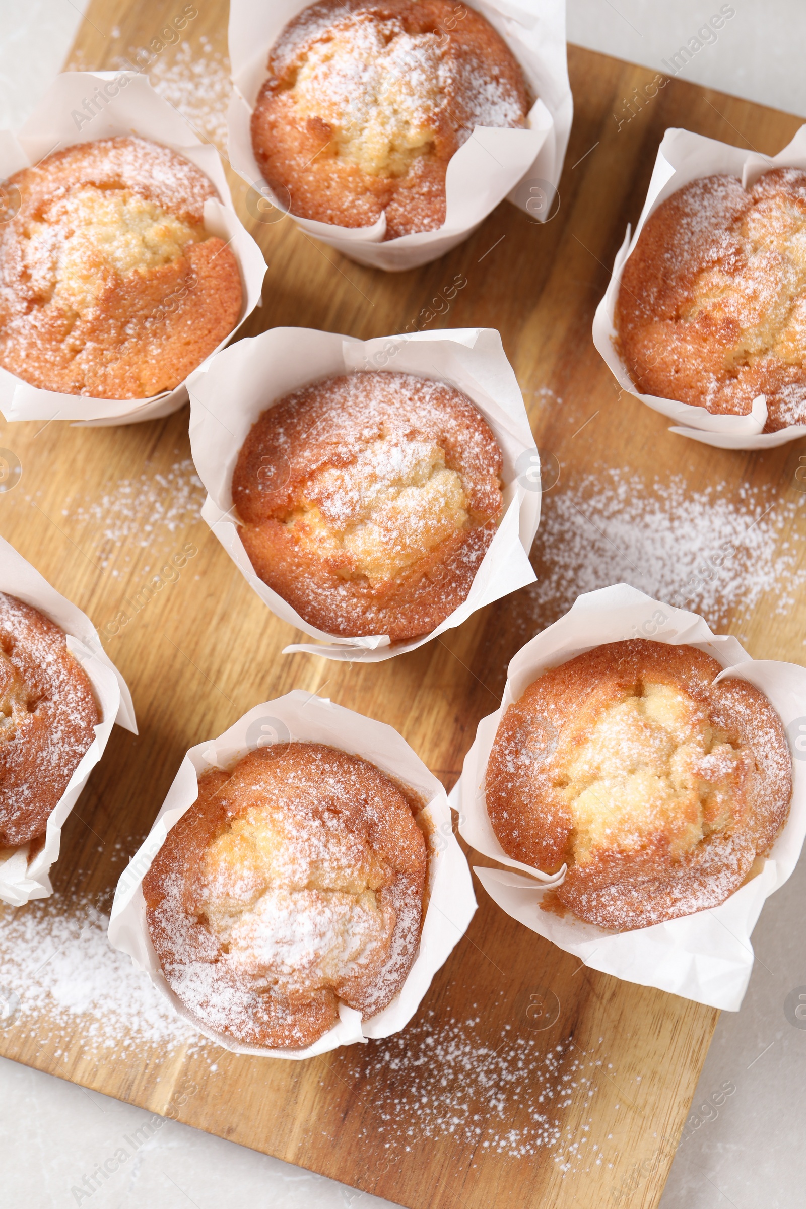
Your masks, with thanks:
[[(226, 4), (213, 0), (199, 7), (185, 29), (186, 41), (193, 53), (225, 52)], [(70, 63), (116, 66), (118, 56), (149, 45), (180, 8), (179, 0), (93, 0)], [(669, 435), (661, 416), (619, 395), (593, 349), (591, 322), (626, 224), (639, 215), (667, 127), (775, 152), (799, 121), (682, 81), (669, 81), (626, 121), (627, 98), (636, 88), (643, 92), (655, 74), (575, 47), (569, 47), (569, 62), (575, 117), (556, 216), (541, 226), (504, 203), (466, 243), (417, 271), (375, 272), (317, 244), (289, 219), (255, 222), (244, 207), (244, 186), (231, 174), (236, 204), (268, 264), (263, 307), (244, 334), (276, 324), (363, 339), (394, 332), (464, 274), (466, 287), (430, 326), (499, 329), (538, 445), (556, 455), (563, 474), (596, 467), (643, 474), (662, 469), (665, 475), (683, 474), (691, 490), (707, 482), (725, 482), (730, 490), (767, 484), (783, 496), (791, 491), (802, 444), (736, 453)], [(544, 388), (562, 405), (544, 406)], [(116, 545), (98, 516), (75, 504), (76, 497), (102, 501), (118, 479), (138, 480), (147, 472), (153, 482), (157, 473), (166, 475), (190, 457), (187, 418), (184, 409), (131, 427), (76, 429), (54, 422), (4, 424), (0, 433), (0, 445), (23, 468), (19, 486), (0, 496), (4, 536), (99, 629), (185, 542), (199, 550), (178, 583), (106, 642), (132, 688), (140, 735), (112, 734), (64, 828), (53, 870), (57, 892), (112, 886), (121, 869), (115, 843), (123, 840), (134, 851), (186, 748), (291, 688), (318, 692), (390, 723), (450, 789), (479, 719), (498, 705), (508, 660), (555, 620), (549, 609), (535, 618), (524, 608), (523, 594), (516, 594), (442, 640), (379, 665), (283, 655), (297, 635), (260, 603), (202, 521), (173, 532), (157, 526), (140, 549), (134, 539)], [(564, 490), (562, 479), (555, 490)], [(172, 507), (172, 481), (160, 491)], [(544, 507), (552, 507), (551, 496)], [(685, 574), (682, 567), (682, 582)], [(750, 653), (801, 659), (804, 608), (801, 602), (781, 618), (759, 607), (742, 625)], [(491, 1047), (508, 1028), (514, 1036), (537, 1037), (546, 1054), (561, 1045), (553, 1051), (561, 1054), (561, 1074), (572, 1070), (574, 1055), (578, 1064), (580, 1055), (595, 1055), (590, 1062), (602, 1063), (596, 1094), (569, 1092), (552, 1117), (563, 1136), (575, 1136), (578, 1144), (591, 1122), (587, 1135), (602, 1143), (607, 1162), (576, 1159), (563, 1173), (556, 1147), (512, 1158), (466, 1143), (439, 1122), (433, 1136), (414, 1130), (406, 1147), (390, 1151), (384, 1104), (406, 1088), (390, 1069), (375, 1083), (367, 1080), (363, 1064), (369, 1047), (306, 1063), (224, 1054), (215, 1071), (184, 1052), (166, 1057), (147, 1048), (135, 1062), (103, 1064), (82, 1048), (79, 1020), (76, 1043), (58, 1058), (52, 1045), (16, 1036), (15, 1029), (0, 1032), (0, 1048), (18, 1062), (155, 1112), (173, 1106), (172, 1116), (189, 1124), (417, 1209), (656, 1205), (718, 1013), (580, 967), (505, 916), (480, 886), (477, 895), (470, 931), (434, 979), (412, 1026), (434, 1013), (428, 1019), (439, 1037), (457, 1013), (474, 1011), (476, 1036), (487, 1036)], [(558, 1003), (555, 1023), (543, 1032), (533, 1030), (533, 1012), (529, 1018), (535, 995), (544, 1001), (553, 995)], [(198, 1092), (175, 1095), (187, 1086)], [(517, 1105), (508, 1105), (510, 1110), (515, 1124)]]

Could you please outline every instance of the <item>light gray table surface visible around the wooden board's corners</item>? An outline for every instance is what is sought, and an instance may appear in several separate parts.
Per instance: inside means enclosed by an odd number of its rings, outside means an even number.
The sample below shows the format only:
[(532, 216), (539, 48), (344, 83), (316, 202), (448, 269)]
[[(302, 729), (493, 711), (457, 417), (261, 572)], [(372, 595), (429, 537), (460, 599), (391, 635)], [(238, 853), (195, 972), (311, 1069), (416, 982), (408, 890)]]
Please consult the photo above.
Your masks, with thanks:
[[(703, 46), (680, 77), (806, 115), (806, 0), (735, 0), (731, 7), (735, 16), (718, 40)], [(707, 0), (569, 0), (568, 39), (662, 70), (662, 60), (719, 8)], [(24, 121), (82, 19), (81, 0), (0, 4), (0, 128)], [(788, 993), (806, 985), (805, 902), (806, 860), (769, 899), (756, 926), (750, 988), (742, 1010), (723, 1013), (717, 1026), (692, 1105), (701, 1123), (677, 1153), (661, 1209), (806, 1204), (806, 1020), (795, 1026), (784, 1012)], [(714, 1110), (712, 1093), (724, 1083), (736, 1091)], [(70, 1188), (147, 1116), (0, 1059), (6, 1156), (0, 1205), (74, 1205)], [(372, 1209), (387, 1202), (175, 1122), (138, 1151), (117, 1181), (92, 1197), (92, 1209), (189, 1204)]]

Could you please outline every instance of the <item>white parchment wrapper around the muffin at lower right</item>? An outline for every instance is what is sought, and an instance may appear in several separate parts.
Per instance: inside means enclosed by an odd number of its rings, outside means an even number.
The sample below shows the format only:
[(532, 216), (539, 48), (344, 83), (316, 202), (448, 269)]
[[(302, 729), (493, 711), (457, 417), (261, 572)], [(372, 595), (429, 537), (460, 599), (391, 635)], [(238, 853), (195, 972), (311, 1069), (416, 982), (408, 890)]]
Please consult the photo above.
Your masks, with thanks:
[[(562, 870), (551, 877), (506, 856), (487, 815), (483, 780), (501, 715), (508, 705), (522, 696), (532, 681), (592, 647), (626, 638), (697, 647), (725, 669), (719, 679), (730, 676), (755, 684), (788, 728), (790, 750), (796, 758), (793, 759), (789, 820), (770, 856), (759, 862), (761, 868), (756, 877), (712, 910), (619, 933), (585, 924), (570, 913), (561, 919), (541, 910), (543, 890), (557, 885)], [(806, 834), (806, 746), (802, 739), (800, 745), (793, 739), (793, 730), (801, 733), (799, 724), (806, 733), (806, 669), (798, 664), (750, 659), (736, 638), (712, 634), (696, 613), (672, 608), (627, 584), (616, 584), (579, 596), (564, 617), (518, 650), (509, 665), (500, 708), (479, 723), (451, 804), (459, 811), (459, 832), (468, 844), (512, 870), (530, 874), (475, 869), (487, 893), (508, 915), (575, 954), (593, 970), (735, 1012), (741, 1006), (753, 967), (750, 932), (764, 899), (782, 886), (795, 868)], [(802, 753), (800, 747), (804, 747)]]

